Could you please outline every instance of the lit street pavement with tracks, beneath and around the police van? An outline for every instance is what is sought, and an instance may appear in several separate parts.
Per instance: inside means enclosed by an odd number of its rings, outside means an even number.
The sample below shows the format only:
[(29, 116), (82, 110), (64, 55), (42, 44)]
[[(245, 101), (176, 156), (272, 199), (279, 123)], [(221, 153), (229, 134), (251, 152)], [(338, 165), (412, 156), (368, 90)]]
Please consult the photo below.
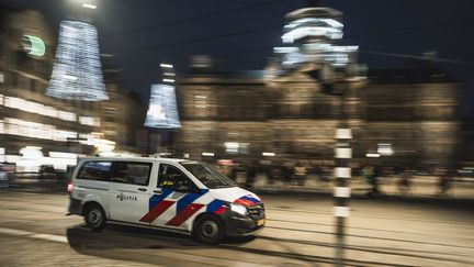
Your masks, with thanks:
[[(332, 199), (263, 194), (267, 227), (255, 238), (208, 246), (187, 235), (108, 225), (90, 232), (66, 216), (68, 196), (0, 191), (0, 266), (331, 266)], [(472, 266), (472, 200), (351, 200), (347, 266)]]

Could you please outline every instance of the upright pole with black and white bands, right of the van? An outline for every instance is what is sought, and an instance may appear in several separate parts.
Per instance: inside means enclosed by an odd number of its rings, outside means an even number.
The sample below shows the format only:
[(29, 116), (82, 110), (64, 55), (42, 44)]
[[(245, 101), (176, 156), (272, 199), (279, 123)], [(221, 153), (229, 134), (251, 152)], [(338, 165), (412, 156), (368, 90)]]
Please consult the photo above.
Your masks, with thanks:
[[(346, 89), (346, 85), (345, 89)], [(352, 148), (350, 147), (350, 140), (352, 138), (352, 132), (346, 121), (345, 112), (345, 94), (343, 91), (340, 96), (340, 109), (341, 118), (340, 125), (336, 130), (336, 168), (335, 168), (335, 216), (336, 216), (336, 266), (343, 266), (343, 248), (345, 248), (345, 218), (349, 216), (349, 199), (350, 199), (350, 187), (348, 179), (351, 178), (351, 168), (349, 160), (352, 158)]]

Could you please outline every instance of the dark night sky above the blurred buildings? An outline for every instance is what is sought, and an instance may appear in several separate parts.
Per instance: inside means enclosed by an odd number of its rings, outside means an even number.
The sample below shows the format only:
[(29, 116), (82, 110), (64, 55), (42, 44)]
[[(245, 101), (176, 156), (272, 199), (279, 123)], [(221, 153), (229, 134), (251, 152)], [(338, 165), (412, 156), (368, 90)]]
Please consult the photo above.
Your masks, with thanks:
[[(178, 75), (191, 55), (214, 55), (219, 70), (262, 69), (272, 47), (280, 46), (283, 16), (307, 5), (304, 0), (0, 0), (43, 11), (57, 32), (76, 12), (92, 12), (101, 53), (120, 70), (122, 85), (143, 96), (159, 81), (159, 63), (172, 63)], [(474, 1), (472, 0), (326, 0), (345, 13), (343, 44), (359, 45), (369, 68), (400, 67), (405, 56), (437, 52), (439, 62), (463, 82), (464, 115), (474, 109)], [(373, 52), (398, 54), (374, 55)]]

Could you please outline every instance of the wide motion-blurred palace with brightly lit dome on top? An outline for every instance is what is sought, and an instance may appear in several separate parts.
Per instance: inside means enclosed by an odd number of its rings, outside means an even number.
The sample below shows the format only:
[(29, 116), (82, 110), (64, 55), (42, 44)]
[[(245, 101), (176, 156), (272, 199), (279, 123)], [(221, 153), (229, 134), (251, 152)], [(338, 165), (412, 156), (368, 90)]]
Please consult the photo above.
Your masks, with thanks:
[(332, 164), (336, 127), (345, 120), (357, 164), (453, 164), (459, 85), (430, 63), (370, 70), (365, 79), (358, 46), (336, 44), (341, 16), (318, 7), (289, 13), (284, 46), (262, 71), (222, 73), (212, 58), (193, 58), (177, 88), (183, 125), (177, 153), (210, 162)]

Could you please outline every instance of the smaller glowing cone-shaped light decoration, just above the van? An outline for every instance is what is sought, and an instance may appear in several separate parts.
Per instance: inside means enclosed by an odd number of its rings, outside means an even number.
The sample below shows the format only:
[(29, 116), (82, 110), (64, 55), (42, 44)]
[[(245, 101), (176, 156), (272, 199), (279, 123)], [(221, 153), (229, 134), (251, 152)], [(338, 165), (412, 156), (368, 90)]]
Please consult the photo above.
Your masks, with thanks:
[(149, 108), (144, 125), (157, 129), (181, 127), (173, 86), (151, 85)]

